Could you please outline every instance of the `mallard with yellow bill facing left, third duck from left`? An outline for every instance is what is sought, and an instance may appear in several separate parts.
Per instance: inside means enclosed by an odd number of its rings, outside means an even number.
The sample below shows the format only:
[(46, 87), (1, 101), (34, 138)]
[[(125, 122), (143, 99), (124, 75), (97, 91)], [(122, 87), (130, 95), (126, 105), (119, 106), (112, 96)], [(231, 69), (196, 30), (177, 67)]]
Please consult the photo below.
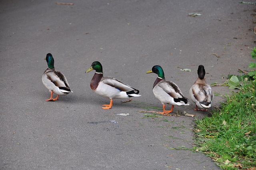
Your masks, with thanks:
[[(153, 85), (153, 93), (157, 99), (159, 99), (163, 105), (163, 112), (160, 114), (172, 113), (174, 106), (189, 105), (188, 99), (183, 96), (180, 88), (172, 81), (166, 81), (164, 78), (164, 71), (160, 65), (155, 65), (150, 71), (146, 73), (156, 73), (158, 77)], [(165, 110), (165, 104), (172, 105), (170, 111)]]

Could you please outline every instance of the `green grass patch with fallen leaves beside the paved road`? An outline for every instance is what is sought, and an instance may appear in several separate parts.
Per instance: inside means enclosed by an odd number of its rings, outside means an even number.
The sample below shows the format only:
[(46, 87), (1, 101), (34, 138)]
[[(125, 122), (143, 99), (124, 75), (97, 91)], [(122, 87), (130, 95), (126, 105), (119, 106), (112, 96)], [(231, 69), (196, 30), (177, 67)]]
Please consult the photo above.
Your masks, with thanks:
[(222, 169), (256, 167), (256, 81), (243, 81), (242, 90), (226, 96), (212, 117), (196, 120), (200, 147)]

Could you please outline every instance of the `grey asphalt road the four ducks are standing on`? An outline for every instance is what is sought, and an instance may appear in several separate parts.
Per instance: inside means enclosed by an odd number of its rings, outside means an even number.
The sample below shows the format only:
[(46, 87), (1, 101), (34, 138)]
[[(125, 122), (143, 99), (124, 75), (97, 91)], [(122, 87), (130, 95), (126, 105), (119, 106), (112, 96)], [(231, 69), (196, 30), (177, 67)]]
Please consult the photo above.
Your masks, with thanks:
[[(173, 112), (196, 117), (139, 112), (162, 108), (152, 93), (157, 75), (146, 71), (161, 65), (188, 98), (198, 65), (208, 84), (240, 74), (252, 61), (255, 6), (238, 0), (56, 2), (0, 2), (0, 169), (219, 169), (203, 153), (184, 150), (196, 146), (194, 121), (208, 112), (194, 111), (191, 100)], [(50, 93), (41, 80), (47, 53), (74, 92), (55, 102), (45, 101)], [(90, 89), (94, 71), (85, 71), (93, 61), (102, 63), (104, 76), (142, 96), (101, 109), (110, 100)], [(216, 95), (213, 106), (224, 100)]]

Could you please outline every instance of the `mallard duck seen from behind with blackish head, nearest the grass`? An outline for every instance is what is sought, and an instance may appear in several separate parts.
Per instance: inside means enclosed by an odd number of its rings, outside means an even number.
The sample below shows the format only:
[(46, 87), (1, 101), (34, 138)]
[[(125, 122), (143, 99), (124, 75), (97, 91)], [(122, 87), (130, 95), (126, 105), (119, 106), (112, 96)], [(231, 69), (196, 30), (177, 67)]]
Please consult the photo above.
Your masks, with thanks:
[(207, 111), (207, 109), (211, 107), (214, 95), (212, 93), (212, 88), (204, 79), (205, 70), (203, 65), (198, 66), (197, 74), (198, 78), (189, 91), (190, 98), (196, 103), (195, 111)]

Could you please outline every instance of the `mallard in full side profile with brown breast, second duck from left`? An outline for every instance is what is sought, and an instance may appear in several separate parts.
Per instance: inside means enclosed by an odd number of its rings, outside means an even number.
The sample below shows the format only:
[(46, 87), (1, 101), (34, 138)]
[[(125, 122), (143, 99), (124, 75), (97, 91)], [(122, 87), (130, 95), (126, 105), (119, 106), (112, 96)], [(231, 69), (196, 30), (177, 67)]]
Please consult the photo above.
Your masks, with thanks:
[(89, 73), (90, 71), (95, 70), (94, 76), (92, 77), (92, 81), (90, 83), (90, 87), (92, 91), (101, 97), (109, 98), (109, 105), (102, 105), (102, 109), (110, 109), (112, 108), (113, 99), (127, 99), (129, 97), (139, 97), (139, 91), (130, 87), (129, 85), (111, 78), (111, 77), (103, 77), (102, 65), (99, 61), (94, 61), (85, 73)]

